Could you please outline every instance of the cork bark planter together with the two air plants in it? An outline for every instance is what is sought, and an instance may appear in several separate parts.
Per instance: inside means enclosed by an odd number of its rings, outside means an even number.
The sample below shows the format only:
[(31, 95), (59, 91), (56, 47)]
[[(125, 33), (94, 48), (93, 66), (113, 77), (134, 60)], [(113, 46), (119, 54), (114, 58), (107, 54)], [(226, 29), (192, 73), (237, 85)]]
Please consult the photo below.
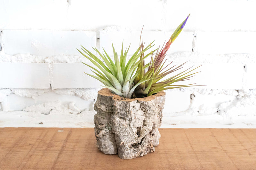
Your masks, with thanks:
[[(189, 15), (188, 15), (189, 17)], [(197, 86), (195, 84), (175, 85), (186, 81), (198, 72), (198, 67), (180, 71), (185, 63), (179, 66), (164, 65), (164, 60), (172, 42), (182, 31), (188, 17), (177, 27), (163, 48), (154, 47), (153, 42), (145, 47), (140, 35), (139, 48), (126, 61), (128, 50), (122, 44), (120, 57), (113, 43), (114, 61), (108, 53), (100, 53), (93, 48), (97, 55), (81, 46), (78, 50), (92, 65), (84, 63), (92, 69), (96, 78), (103, 84), (94, 104), (94, 130), (97, 147), (105, 154), (117, 154), (122, 159), (132, 159), (154, 152), (159, 144), (158, 128), (162, 122), (162, 110), (165, 102), (164, 90)], [(153, 54), (155, 56), (153, 57)], [(145, 59), (150, 57), (150, 62)], [(199, 66), (200, 67), (200, 66)], [(177, 71), (180, 71), (177, 73)], [(165, 78), (167, 75), (171, 75)], [(87, 73), (86, 73), (87, 74)]]

